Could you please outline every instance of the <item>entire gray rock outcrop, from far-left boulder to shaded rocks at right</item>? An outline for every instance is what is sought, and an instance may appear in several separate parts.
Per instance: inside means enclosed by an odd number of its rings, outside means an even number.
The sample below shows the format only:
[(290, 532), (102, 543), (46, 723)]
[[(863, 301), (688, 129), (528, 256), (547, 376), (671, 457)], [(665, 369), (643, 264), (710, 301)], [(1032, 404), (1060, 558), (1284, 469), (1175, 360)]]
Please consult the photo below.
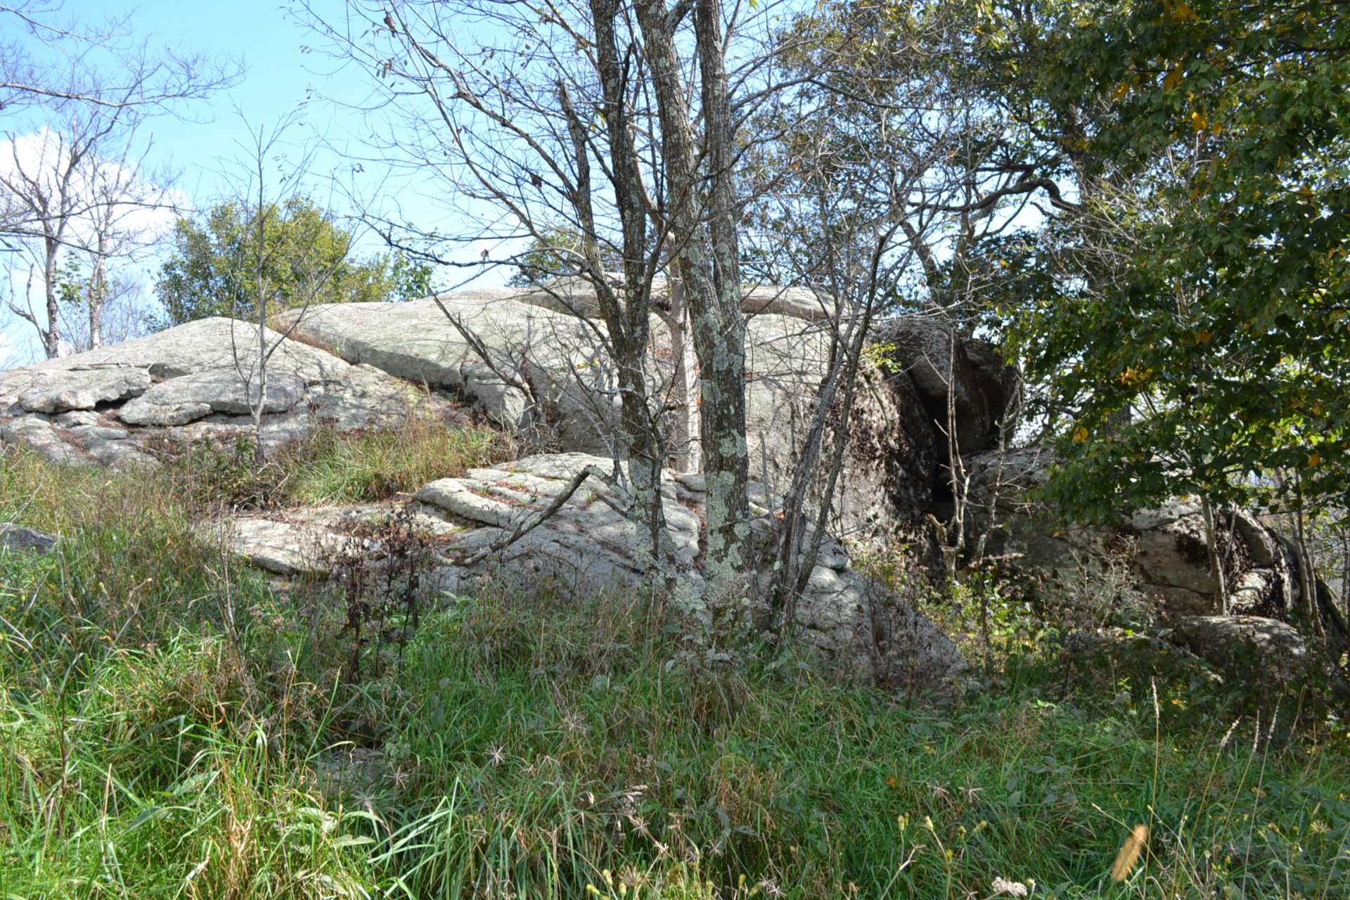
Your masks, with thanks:
[[(655, 287), (660, 305), (664, 286)], [(756, 287), (745, 291), (744, 309), (755, 514), (768, 530), (779, 505), (774, 498), (791, 478), (828, 372), (832, 304), (811, 291)], [(282, 313), (274, 325), (289, 337), (267, 336), (278, 348), (269, 366), (263, 447), (270, 452), (320, 425), (358, 430), (396, 422), (414, 401), (448, 422), (467, 421), (460, 410), (467, 406), (535, 452), (417, 491), (413, 514), (436, 540), (435, 586), (460, 590), (487, 576), (528, 576), (578, 590), (640, 588), (647, 583), (643, 541), (616, 511), (620, 498), (603, 479), (587, 480), (518, 541), (486, 552), (556, 499), (579, 470), (621, 468), (617, 379), (594, 312), (594, 296), (583, 286), (554, 285)], [(1200, 653), (1224, 633), (1212, 621), (1218, 610), (1196, 505), (1177, 501), (1111, 529), (1049, 521), (1025, 501), (1045, 479), (1044, 456), (1034, 448), (990, 452), (1014, 426), (1018, 372), (991, 347), (956, 337), (932, 317), (882, 320), (872, 339), (849, 420), (838, 421), (837, 410), (829, 420), (846, 433), (842, 478), (828, 501), (819, 487), (813, 498), (830, 503), (834, 537), (894, 541), (915, 534), (929, 513), (942, 515), (954, 445), (971, 472), (971, 525), (988, 533), (990, 555), (1050, 576), (1123, 555), (1141, 594), (1157, 599), (1170, 619), (1199, 623), (1169, 631), (1187, 636), (1185, 646)], [(0, 372), (0, 440), (27, 444), (55, 463), (150, 467), (197, 443), (248, 436), (255, 340), (244, 322), (208, 318)], [(668, 395), (674, 354), (659, 316), (652, 318), (649, 359), (652, 395)], [(698, 594), (701, 478), (668, 474), (663, 503), (680, 578)], [(335, 559), (378, 560), (386, 552), (360, 524), (387, 517), (390, 509), (301, 509), (204, 528), (274, 573), (327, 578)], [(7, 545), (19, 540), (7, 534)], [(1234, 513), (1220, 551), (1231, 611), (1284, 618), (1296, 569), (1280, 537), (1257, 518)], [(950, 641), (852, 571), (834, 538), (826, 540), (806, 594), (798, 607), (805, 640), (836, 668), (905, 683), (917, 672), (930, 677), (960, 668)]]

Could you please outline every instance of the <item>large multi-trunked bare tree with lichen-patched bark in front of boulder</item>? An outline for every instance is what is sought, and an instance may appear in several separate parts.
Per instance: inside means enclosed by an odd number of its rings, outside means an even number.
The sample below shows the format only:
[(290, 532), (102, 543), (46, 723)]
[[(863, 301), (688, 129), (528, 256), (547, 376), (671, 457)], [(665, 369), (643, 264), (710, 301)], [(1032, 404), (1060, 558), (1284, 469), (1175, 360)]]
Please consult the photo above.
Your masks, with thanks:
[[(470, 219), (477, 210), (479, 225), (450, 239), (371, 210), (390, 243), (477, 270), (482, 260), (454, 258), (455, 237), (525, 239), (537, 247), (559, 233), (579, 236), (576, 247), (559, 248), (551, 274), (585, 281), (597, 298), (605, 327), (598, 340), (618, 371), (624, 455), (643, 498), (634, 513), (651, 530), (656, 557), (664, 544), (656, 487), (671, 451), (668, 421), (687, 409), (680, 386), (687, 394), (693, 367), (651, 386), (648, 322), (662, 313), (679, 347), (686, 331), (679, 305), (687, 306), (699, 422), (690, 429), (686, 420), (676, 434), (683, 443), (697, 432), (707, 479), (705, 567), (714, 580), (747, 568), (737, 130), (760, 101), (751, 86), (764, 84), (771, 63), (752, 53), (728, 72), (726, 59), (733, 45), (752, 49), (755, 27), (764, 34), (771, 9), (755, 13), (753, 27), (742, 20), (744, 8), (728, 13), (720, 0), (548, 0), (537, 8), (352, 0), (342, 19), (308, 12), (338, 55), (378, 77), (366, 109), (377, 134), (397, 123), (398, 139), (379, 143), (374, 155), (423, 177), (440, 174), (458, 210)], [(470, 22), (475, 31), (466, 39)], [(617, 279), (605, 266), (616, 259)], [(667, 291), (674, 309), (653, 302), (663, 273), (678, 285)]]

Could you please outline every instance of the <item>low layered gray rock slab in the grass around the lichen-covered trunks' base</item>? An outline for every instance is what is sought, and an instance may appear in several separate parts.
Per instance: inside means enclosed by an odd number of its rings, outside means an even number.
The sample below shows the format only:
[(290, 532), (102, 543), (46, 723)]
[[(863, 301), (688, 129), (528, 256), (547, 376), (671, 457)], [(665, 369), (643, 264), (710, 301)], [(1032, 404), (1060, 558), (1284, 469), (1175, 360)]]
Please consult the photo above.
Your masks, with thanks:
[[(514, 542), (502, 546), (522, 522), (549, 507), (580, 471), (593, 476), (558, 511)], [(412, 503), (413, 525), (431, 536), (437, 590), (464, 591), (474, 584), (540, 580), (562, 583), (578, 594), (652, 591), (644, 538), (622, 510), (625, 488), (610, 480), (614, 464), (585, 453), (539, 455), (463, 478), (425, 484)], [(622, 478), (622, 467), (618, 468)], [(770, 502), (753, 490), (753, 511), (768, 529)], [(702, 476), (667, 472), (662, 506), (670, 526), (679, 587), (666, 598), (690, 603), (706, 594), (699, 571)], [(296, 510), (286, 518), (240, 517), (216, 525), (239, 556), (277, 573), (321, 573), (333, 567), (344, 541), (369, 533), (362, 524), (387, 517), (390, 505)], [(343, 548), (347, 549), (343, 549)], [(381, 556), (378, 541), (366, 552)], [(748, 587), (748, 586), (747, 586)], [(680, 598), (684, 598), (683, 600)], [(964, 668), (956, 646), (929, 619), (849, 567), (837, 541), (825, 540), (806, 594), (798, 602), (801, 637), (829, 668), (849, 677), (906, 687), (950, 687)]]

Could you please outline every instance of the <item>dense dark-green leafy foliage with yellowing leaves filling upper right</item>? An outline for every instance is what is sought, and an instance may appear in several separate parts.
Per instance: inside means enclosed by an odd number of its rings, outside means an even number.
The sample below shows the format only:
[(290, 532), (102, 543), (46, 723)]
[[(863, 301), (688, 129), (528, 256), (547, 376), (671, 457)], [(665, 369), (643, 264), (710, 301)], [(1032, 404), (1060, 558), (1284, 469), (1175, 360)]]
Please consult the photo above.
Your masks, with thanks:
[[(1176, 494), (1345, 507), (1345, 16), (1215, 0), (1038, 8), (1037, 46), (1060, 74), (1053, 88), (1023, 78), (1021, 101), (1102, 179), (1084, 196), (1081, 260), (1111, 256), (1100, 278), (1062, 273), (1021, 322), (1068, 456), (1052, 495), (1088, 515)], [(1000, 32), (1010, 47), (1025, 45), (1017, 28)], [(1092, 115), (1052, 119), (1062, 108)]]

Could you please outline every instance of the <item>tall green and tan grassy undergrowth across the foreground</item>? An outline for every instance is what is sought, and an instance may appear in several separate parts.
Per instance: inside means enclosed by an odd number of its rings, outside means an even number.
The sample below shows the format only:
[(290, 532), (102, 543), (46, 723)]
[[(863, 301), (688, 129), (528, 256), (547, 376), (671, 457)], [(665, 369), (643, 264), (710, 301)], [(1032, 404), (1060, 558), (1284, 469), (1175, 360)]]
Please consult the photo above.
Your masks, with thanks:
[(446, 598), (354, 681), (339, 603), (193, 537), (188, 470), (0, 467), (0, 521), (62, 537), (0, 551), (0, 897), (1350, 892), (1343, 729), (1089, 702), (1031, 648), (926, 706), (549, 586)]

